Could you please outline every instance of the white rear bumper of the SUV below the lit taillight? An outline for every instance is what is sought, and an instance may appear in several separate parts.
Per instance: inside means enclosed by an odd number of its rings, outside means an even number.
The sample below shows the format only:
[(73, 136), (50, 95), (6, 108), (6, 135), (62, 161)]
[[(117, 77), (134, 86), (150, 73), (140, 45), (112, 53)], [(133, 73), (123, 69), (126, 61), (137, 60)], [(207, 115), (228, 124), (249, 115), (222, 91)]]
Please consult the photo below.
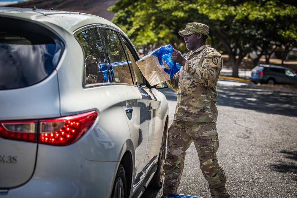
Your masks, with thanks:
[(89, 161), (76, 144), (40, 145), (34, 175), (1, 198), (110, 197), (118, 162)]

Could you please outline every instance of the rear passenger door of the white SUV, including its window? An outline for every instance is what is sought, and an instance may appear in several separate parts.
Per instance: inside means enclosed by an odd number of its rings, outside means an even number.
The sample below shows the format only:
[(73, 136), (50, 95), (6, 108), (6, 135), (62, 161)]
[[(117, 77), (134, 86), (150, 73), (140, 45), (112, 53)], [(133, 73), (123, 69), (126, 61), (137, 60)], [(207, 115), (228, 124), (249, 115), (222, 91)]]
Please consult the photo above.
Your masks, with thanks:
[(135, 85), (135, 75), (129, 64), (131, 61), (127, 59), (119, 34), (102, 28), (99, 29), (99, 33), (109, 62), (108, 73), (112, 77), (113, 87), (122, 98), (122, 108), (130, 129), (135, 164), (132, 185), (136, 190), (146, 174), (144, 166), (149, 141), (149, 94), (145, 88)]

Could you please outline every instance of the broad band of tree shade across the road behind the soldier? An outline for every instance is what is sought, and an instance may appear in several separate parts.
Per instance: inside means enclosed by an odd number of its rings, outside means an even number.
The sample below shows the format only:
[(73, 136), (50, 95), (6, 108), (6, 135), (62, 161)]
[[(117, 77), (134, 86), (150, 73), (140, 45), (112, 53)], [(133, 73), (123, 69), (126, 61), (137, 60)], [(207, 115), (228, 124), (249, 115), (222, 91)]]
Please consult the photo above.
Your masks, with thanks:
[[(167, 100), (176, 101), (172, 89), (159, 89)], [(272, 90), (249, 89), (234, 86), (217, 87), (217, 105), (255, 110), (262, 113), (297, 116), (297, 95)]]

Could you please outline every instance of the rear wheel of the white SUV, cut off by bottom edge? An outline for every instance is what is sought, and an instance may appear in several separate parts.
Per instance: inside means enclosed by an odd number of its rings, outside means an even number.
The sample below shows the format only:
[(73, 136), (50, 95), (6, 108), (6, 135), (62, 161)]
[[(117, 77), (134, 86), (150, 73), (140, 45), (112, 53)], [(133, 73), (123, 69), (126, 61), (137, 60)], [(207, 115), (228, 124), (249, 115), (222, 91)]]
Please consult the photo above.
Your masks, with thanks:
[(111, 198), (127, 198), (127, 181), (124, 167), (120, 164), (113, 184)]

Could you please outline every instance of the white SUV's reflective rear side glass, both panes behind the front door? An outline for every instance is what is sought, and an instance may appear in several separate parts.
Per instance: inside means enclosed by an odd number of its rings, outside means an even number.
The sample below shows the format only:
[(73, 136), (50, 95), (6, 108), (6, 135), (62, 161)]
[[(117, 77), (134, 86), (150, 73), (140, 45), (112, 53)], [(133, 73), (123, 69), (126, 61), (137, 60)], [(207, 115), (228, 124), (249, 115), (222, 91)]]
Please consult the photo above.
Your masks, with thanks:
[(84, 87), (111, 82), (133, 84), (131, 61), (116, 31), (95, 26), (75, 37), (85, 56)]

